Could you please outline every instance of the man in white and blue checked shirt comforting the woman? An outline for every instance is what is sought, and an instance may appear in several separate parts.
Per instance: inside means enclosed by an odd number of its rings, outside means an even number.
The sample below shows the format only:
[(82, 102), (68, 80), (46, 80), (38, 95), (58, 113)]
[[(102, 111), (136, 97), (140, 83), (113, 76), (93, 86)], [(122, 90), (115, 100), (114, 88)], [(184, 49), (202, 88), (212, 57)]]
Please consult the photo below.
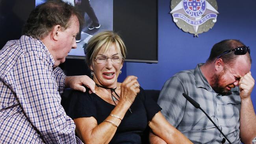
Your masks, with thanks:
[(76, 48), (81, 19), (73, 6), (47, 1), (32, 11), (24, 35), (0, 51), (0, 144), (82, 143), (60, 94), (65, 87), (85, 91), (82, 85), (95, 92), (95, 83), (57, 67)]

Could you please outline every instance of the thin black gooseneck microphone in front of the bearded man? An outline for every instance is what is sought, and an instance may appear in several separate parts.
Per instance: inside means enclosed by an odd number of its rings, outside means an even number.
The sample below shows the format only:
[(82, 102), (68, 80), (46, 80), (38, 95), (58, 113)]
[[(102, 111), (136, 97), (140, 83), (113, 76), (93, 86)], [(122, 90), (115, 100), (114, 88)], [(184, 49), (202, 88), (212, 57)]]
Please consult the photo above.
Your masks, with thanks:
[[(224, 135), (224, 133), (221, 131), (221, 129), (219, 129), (219, 127), (213, 122), (213, 120), (210, 118), (210, 116), (200, 107), (200, 104), (197, 103), (195, 100), (193, 100), (192, 98), (190, 98), (187, 94), (182, 93), (182, 95), (197, 109), (200, 109), (202, 112), (204, 112), (204, 114), (209, 118), (209, 120), (214, 124), (214, 126), (219, 130), (219, 132), (221, 132), (221, 134), (223, 135), (224, 138), (226, 138), (226, 140), (228, 140), (228, 138)], [(222, 140), (222, 142), (225, 142), (224, 139)], [(230, 144), (232, 144), (229, 140), (228, 142)]]

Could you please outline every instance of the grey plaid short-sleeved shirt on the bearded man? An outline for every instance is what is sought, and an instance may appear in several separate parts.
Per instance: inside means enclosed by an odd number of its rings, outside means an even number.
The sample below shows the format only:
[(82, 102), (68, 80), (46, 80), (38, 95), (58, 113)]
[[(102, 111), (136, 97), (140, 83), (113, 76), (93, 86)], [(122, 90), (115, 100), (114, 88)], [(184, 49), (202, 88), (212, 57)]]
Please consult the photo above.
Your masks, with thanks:
[(178, 72), (165, 82), (158, 99), (163, 109), (161, 113), (193, 143), (220, 144), (224, 137), (200, 109), (182, 96), (186, 93), (200, 104), (232, 144), (240, 144), (239, 88), (232, 89), (228, 96), (217, 94), (203, 76), (201, 65), (198, 64), (195, 70)]

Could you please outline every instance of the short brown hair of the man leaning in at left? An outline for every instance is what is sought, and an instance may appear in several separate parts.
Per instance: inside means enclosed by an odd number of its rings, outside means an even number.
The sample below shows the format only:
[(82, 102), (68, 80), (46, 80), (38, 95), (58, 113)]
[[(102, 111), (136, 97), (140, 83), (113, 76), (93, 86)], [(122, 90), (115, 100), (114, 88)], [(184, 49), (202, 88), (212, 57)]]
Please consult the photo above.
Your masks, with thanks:
[(66, 30), (72, 16), (78, 18), (80, 25), (83, 24), (83, 18), (74, 6), (61, 0), (48, 0), (30, 13), (23, 35), (42, 39), (58, 24)]

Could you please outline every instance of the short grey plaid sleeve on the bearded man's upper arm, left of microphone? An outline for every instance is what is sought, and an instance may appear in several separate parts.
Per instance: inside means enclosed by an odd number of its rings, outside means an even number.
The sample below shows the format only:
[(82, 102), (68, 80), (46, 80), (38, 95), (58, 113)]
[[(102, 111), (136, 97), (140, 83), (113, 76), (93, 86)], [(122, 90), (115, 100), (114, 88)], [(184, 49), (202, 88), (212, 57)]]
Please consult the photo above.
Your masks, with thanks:
[(184, 115), (186, 99), (182, 96), (184, 85), (176, 76), (165, 82), (158, 98), (158, 104), (162, 107), (161, 113), (174, 127), (177, 127)]

